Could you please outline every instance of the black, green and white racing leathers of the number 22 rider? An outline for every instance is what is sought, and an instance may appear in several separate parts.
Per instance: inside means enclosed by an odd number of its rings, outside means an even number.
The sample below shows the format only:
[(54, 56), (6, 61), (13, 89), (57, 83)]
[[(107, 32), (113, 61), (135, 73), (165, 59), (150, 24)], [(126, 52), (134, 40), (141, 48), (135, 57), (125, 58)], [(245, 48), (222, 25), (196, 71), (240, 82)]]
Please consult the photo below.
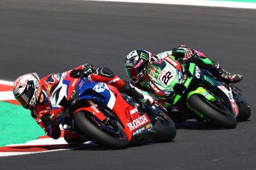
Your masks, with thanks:
[[(145, 51), (145, 53), (150, 53), (150, 52)], [(230, 82), (236, 83), (242, 79), (242, 76), (239, 74), (231, 74), (221, 69), (218, 63), (212, 62), (211, 60), (209, 60), (204, 55), (204, 53), (198, 52), (197, 50), (191, 50), (186, 46), (179, 46), (178, 48), (173, 48), (170, 51), (148, 56), (149, 61), (146, 67), (147, 71), (145, 71), (145, 74), (143, 75), (140, 81), (138, 82), (131, 81), (131, 83), (132, 85), (138, 87), (138, 89), (145, 90), (147, 92), (150, 92), (151, 94), (154, 94), (158, 98), (156, 102), (159, 104), (162, 104), (165, 108), (172, 106), (172, 104), (168, 103), (168, 101), (166, 100), (166, 95), (163, 92), (161, 92), (161, 90), (159, 90), (154, 85), (154, 83), (152, 83), (154, 80), (151, 80), (151, 78), (154, 77), (154, 73), (156, 73), (156, 71), (159, 71), (156, 69), (157, 64), (159, 64), (160, 63), (159, 61), (163, 60), (165, 57), (170, 57), (171, 59), (177, 60), (178, 62), (193, 62), (198, 67), (202, 69), (207, 69), (214, 76), (216, 76), (217, 78), (220, 78), (221, 80), (227, 83), (230, 83)], [(127, 65), (129, 65), (130, 63), (131, 62), (127, 62)], [(175, 119), (174, 117), (172, 118), (173, 120)]]

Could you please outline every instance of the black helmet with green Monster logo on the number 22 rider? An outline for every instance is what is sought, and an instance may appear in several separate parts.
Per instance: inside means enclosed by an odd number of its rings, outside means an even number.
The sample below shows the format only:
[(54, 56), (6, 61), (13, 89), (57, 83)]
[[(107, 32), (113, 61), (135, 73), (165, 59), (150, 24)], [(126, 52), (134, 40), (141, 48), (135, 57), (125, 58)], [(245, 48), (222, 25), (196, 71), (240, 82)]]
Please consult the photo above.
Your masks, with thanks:
[(133, 83), (141, 81), (147, 72), (147, 66), (151, 56), (151, 52), (134, 50), (125, 57), (125, 70), (127, 76)]

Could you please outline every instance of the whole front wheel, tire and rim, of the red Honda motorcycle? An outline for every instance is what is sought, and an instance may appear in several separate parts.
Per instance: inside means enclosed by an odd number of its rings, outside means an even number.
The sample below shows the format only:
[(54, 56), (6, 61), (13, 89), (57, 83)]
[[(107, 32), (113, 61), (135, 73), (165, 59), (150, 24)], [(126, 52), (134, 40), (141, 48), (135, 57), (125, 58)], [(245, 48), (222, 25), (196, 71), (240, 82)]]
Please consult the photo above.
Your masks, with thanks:
[(106, 148), (122, 149), (126, 148), (129, 143), (122, 125), (117, 120), (111, 120), (106, 124), (101, 122), (92, 113), (78, 111), (74, 121), (88, 138)]

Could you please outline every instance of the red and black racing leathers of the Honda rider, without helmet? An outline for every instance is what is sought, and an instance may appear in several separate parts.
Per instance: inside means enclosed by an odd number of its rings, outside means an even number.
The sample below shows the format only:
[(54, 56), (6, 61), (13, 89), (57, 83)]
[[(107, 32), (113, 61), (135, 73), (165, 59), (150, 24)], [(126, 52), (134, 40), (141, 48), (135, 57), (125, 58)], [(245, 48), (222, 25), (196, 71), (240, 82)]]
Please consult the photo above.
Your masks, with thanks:
[[(44, 129), (47, 136), (50, 136), (53, 139), (60, 138), (61, 130), (59, 126), (60, 120), (58, 120), (58, 118), (54, 118), (54, 120), (51, 119), (52, 107), (50, 97), (60, 82), (61, 74), (70, 74), (73, 78), (87, 76), (89, 80), (101, 81), (113, 85), (120, 92), (134, 97), (134, 99), (138, 99), (141, 103), (154, 103), (154, 99), (151, 96), (136, 89), (127, 81), (121, 80), (106, 67), (95, 69), (91, 64), (84, 64), (64, 73), (49, 74), (40, 80), (40, 83), (42, 83), (42, 95), (44, 95), (44, 101), (36, 104), (35, 109), (31, 110), (31, 116), (35, 119), (37, 124)], [(86, 141), (86, 139), (81, 138), (81, 136), (71, 131), (64, 131), (64, 139), (67, 143), (84, 143)]]

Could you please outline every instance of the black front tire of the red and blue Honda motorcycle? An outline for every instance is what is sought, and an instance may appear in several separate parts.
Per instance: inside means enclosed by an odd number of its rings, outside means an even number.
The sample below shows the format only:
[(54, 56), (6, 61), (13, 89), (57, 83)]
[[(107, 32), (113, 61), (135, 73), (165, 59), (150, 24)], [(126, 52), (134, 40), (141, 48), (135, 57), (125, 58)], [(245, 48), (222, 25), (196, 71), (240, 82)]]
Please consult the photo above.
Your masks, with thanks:
[(129, 141), (121, 125), (118, 125), (118, 129), (122, 134), (122, 138), (116, 138), (102, 131), (96, 124), (93, 124), (89, 120), (90, 117), (86, 117), (86, 114), (92, 115), (92, 113), (86, 111), (78, 111), (74, 117), (74, 121), (88, 138), (93, 139), (96, 143), (106, 148), (123, 149), (127, 147)]

